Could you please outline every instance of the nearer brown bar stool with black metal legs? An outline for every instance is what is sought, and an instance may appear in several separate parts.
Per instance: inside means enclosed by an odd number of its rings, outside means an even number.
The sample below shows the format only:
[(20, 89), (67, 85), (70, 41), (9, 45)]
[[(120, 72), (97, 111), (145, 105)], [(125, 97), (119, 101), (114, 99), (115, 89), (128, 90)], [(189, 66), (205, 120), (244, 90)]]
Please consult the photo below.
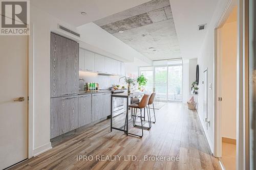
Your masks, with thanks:
[[(142, 135), (140, 137), (143, 136), (143, 129), (150, 129), (151, 128), (151, 122), (150, 121), (148, 121), (148, 125), (149, 125), (148, 127), (144, 127), (143, 123), (142, 123), (142, 109), (146, 108), (149, 99), (150, 99), (150, 95), (149, 94), (144, 94), (140, 103), (134, 103), (134, 104), (129, 105), (129, 107), (133, 108), (133, 110), (134, 110), (134, 113), (132, 113), (132, 114), (134, 114), (134, 116), (133, 116), (133, 126), (137, 127), (137, 128), (141, 128)], [(140, 116), (138, 116), (138, 117), (140, 117), (141, 125), (136, 125), (137, 109), (140, 109)], [(147, 116), (148, 116), (148, 113), (147, 113)], [(150, 117), (148, 116), (148, 118), (150, 118)], [(126, 124), (126, 121), (125, 121), (125, 124)], [(125, 124), (124, 124), (124, 127), (125, 127)]]

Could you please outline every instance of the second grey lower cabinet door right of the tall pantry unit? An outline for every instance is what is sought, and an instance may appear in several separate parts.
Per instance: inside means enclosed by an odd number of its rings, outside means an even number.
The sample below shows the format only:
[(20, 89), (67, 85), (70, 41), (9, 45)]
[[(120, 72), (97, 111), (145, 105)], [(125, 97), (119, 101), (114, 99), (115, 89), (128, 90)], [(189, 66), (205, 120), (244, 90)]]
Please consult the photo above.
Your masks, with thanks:
[(92, 122), (102, 118), (102, 93), (92, 94)]

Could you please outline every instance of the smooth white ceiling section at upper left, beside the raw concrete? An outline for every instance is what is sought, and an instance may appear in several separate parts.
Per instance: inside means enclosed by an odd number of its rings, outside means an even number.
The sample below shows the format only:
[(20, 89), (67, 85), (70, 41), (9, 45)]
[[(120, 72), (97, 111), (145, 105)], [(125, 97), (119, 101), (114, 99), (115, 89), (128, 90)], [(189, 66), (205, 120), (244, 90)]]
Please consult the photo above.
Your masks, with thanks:
[[(73, 26), (133, 8), (150, 0), (31, 0), (30, 3)], [(81, 15), (86, 12), (87, 15)]]

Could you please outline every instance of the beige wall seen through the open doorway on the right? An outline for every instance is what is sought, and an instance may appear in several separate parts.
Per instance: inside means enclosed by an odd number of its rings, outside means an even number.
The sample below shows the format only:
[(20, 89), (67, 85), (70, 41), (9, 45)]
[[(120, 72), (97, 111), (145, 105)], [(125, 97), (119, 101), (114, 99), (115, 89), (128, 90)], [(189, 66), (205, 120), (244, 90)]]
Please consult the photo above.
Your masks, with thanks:
[(221, 131), (222, 137), (236, 139), (237, 104), (237, 22), (221, 28)]

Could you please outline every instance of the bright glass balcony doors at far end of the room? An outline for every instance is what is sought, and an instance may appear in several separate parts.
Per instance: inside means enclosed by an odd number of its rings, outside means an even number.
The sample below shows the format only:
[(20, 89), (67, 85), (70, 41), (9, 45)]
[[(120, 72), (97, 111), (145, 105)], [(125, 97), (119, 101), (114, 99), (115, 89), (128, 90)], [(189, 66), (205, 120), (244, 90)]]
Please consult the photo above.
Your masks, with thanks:
[(165, 60), (160, 64), (140, 67), (139, 74), (147, 79), (146, 91), (155, 91), (158, 101), (182, 102), (182, 60)]

